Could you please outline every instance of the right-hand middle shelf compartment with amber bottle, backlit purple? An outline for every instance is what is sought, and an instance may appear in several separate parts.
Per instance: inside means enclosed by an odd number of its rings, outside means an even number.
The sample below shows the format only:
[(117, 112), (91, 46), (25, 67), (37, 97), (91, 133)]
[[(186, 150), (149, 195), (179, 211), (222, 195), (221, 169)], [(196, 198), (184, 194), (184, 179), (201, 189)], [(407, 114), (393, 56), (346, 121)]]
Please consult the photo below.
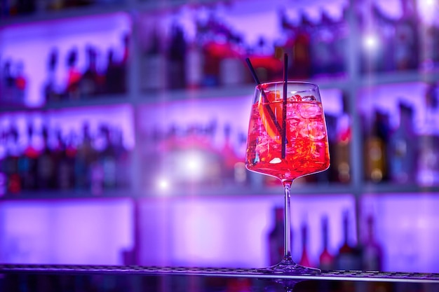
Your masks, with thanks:
[(365, 181), (420, 191), (437, 187), (437, 83), (363, 88), (358, 106), (363, 117)]

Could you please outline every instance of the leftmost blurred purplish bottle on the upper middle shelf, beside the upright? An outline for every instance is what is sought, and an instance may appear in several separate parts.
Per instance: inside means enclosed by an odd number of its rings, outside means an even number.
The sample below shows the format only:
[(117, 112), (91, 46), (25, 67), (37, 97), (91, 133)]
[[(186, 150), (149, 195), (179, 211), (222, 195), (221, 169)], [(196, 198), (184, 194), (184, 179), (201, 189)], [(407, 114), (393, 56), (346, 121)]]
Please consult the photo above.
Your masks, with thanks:
[(142, 56), (142, 90), (162, 90), (167, 88), (166, 56), (163, 51), (161, 34), (154, 29)]

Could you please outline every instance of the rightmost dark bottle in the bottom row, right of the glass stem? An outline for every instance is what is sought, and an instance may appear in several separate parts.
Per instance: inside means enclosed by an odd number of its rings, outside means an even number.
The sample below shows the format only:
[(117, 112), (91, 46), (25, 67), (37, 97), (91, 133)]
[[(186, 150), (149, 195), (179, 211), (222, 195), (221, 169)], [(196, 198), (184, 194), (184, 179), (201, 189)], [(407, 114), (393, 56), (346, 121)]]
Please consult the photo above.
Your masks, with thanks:
[(383, 251), (374, 237), (374, 218), (369, 215), (366, 220), (367, 237), (363, 243), (363, 270), (382, 271)]

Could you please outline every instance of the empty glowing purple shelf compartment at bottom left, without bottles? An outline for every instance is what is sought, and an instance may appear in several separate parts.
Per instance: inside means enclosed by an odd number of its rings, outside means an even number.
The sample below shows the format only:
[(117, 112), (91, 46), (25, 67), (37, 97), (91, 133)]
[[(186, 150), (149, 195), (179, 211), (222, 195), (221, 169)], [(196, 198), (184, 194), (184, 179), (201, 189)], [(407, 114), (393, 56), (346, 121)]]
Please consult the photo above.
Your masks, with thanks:
[(0, 202), (0, 262), (121, 265), (132, 212), (130, 199)]

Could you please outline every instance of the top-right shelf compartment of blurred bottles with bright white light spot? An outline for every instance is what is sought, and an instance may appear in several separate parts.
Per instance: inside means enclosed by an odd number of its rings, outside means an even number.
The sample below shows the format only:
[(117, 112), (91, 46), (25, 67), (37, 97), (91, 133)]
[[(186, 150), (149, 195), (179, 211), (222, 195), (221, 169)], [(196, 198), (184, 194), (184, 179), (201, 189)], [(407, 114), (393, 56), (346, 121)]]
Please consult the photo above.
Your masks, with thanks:
[(438, 69), (439, 27), (434, 1), (368, 1), (356, 6), (363, 74)]

